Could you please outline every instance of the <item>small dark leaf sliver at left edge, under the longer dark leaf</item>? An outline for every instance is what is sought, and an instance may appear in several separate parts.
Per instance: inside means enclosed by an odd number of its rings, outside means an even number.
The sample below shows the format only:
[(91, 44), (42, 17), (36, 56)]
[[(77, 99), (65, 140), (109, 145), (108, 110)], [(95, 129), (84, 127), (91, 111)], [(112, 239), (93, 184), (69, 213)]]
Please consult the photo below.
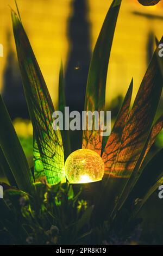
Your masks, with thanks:
[(9, 184), (11, 186), (15, 186), (17, 187), (14, 175), (11, 172), (11, 169), (9, 167), (9, 164), (3, 154), (3, 151), (0, 147), (0, 174), (3, 176), (5, 176), (5, 178), (7, 178)]

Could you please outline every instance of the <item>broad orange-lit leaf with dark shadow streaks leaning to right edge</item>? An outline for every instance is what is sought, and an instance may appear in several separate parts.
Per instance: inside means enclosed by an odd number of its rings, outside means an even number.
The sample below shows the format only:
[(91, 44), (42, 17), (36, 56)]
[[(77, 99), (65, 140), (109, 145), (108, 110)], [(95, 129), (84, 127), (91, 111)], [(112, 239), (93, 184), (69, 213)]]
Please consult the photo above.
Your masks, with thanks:
[[(161, 39), (163, 41), (163, 39)], [(157, 50), (142, 80), (133, 108), (124, 127), (114, 172), (129, 178), (147, 141), (162, 91)]]

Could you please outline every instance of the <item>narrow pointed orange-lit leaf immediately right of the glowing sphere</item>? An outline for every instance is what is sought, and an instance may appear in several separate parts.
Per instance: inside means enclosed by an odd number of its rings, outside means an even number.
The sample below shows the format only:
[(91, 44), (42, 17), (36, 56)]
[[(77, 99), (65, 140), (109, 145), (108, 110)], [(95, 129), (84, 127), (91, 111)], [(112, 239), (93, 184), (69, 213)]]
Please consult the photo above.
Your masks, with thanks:
[[(120, 180), (116, 179), (117, 176), (116, 173), (114, 173), (114, 165), (116, 163), (116, 157), (121, 145), (122, 133), (129, 114), (132, 92), (133, 80), (130, 83), (127, 94), (122, 103), (122, 107), (117, 115), (114, 127), (112, 128), (108, 142), (105, 146), (104, 153), (102, 155), (105, 166), (105, 177), (102, 181), (103, 190), (99, 194), (99, 198), (96, 200), (95, 210), (97, 212), (102, 208), (104, 212), (107, 212), (107, 214), (111, 213), (111, 210), (115, 205), (116, 196), (119, 192), (121, 193), (121, 186), (119, 184)], [(107, 206), (105, 203), (102, 204), (102, 202), (106, 202), (106, 200), (108, 200), (109, 206)]]

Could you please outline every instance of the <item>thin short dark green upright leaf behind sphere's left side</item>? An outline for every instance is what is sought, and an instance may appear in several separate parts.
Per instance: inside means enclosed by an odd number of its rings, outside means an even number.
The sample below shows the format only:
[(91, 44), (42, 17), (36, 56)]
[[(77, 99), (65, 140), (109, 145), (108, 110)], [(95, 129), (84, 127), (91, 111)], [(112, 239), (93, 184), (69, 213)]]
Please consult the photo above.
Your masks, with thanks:
[[(63, 114), (64, 121), (67, 122), (65, 113), (66, 99), (65, 99), (65, 84), (64, 84), (64, 70), (61, 62), (59, 72), (59, 95), (58, 95), (58, 110)], [(62, 142), (64, 145), (65, 160), (71, 154), (70, 132), (68, 130), (61, 130)]]

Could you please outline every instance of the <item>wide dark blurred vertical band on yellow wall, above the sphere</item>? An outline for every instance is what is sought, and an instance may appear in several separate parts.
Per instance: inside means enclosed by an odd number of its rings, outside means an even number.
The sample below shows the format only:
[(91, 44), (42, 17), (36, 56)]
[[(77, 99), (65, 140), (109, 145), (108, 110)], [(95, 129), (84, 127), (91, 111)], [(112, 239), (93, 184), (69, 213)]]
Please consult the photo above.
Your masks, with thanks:
[[(68, 22), (70, 54), (65, 72), (66, 105), (70, 111), (84, 110), (85, 90), (91, 59), (90, 24), (87, 0), (73, 0), (73, 14)], [(82, 148), (82, 131), (71, 131), (72, 151)]]

